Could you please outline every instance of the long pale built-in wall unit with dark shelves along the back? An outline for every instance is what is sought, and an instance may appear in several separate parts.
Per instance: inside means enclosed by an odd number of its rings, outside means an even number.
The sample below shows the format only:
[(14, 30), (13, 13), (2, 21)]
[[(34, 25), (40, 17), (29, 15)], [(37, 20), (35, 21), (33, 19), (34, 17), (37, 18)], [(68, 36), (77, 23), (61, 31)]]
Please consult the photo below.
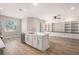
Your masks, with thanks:
[(62, 32), (62, 33), (75, 33), (79, 34), (79, 21), (68, 21), (68, 22), (60, 22), (60, 23), (51, 23), (51, 25), (47, 24), (46, 26), (47, 32)]

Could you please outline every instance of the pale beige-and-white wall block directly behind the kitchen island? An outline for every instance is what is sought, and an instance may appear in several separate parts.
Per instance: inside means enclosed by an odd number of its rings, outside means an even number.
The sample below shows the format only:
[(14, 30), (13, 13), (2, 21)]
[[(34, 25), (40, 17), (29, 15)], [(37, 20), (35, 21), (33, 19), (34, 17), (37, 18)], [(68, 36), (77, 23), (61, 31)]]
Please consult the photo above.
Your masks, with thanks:
[[(27, 17), (22, 19), (22, 33), (34, 33), (40, 31), (40, 23), (44, 23), (44, 20), (41, 20), (36, 17)], [(44, 31), (44, 30), (43, 30)]]

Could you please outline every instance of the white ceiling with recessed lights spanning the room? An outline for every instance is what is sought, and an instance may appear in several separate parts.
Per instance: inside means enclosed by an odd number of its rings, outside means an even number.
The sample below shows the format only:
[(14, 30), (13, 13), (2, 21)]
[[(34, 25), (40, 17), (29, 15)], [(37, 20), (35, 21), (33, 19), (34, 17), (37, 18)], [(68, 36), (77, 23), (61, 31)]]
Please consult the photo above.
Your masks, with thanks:
[[(71, 7), (74, 7), (74, 10), (71, 10)], [(38, 3), (38, 5), (35, 6), (33, 3), (0, 3), (0, 14), (16, 18), (31, 16), (51, 20), (58, 14), (60, 14), (61, 17), (79, 16), (79, 4)]]

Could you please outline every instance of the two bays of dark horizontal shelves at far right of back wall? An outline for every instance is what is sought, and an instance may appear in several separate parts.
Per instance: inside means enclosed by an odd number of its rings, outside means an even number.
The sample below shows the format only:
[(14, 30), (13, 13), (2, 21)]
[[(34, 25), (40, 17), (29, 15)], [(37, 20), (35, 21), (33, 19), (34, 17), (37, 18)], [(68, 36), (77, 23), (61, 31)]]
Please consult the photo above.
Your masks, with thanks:
[(79, 33), (79, 21), (65, 22), (65, 32)]

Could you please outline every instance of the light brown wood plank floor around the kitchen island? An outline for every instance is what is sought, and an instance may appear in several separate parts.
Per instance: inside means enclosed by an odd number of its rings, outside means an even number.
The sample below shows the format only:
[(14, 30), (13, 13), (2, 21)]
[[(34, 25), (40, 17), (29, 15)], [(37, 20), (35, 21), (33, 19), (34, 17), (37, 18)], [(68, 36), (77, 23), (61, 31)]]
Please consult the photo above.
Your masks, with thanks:
[(50, 37), (50, 48), (41, 52), (27, 44), (20, 38), (5, 39), (4, 55), (77, 55), (79, 54), (79, 40), (60, 37)]

